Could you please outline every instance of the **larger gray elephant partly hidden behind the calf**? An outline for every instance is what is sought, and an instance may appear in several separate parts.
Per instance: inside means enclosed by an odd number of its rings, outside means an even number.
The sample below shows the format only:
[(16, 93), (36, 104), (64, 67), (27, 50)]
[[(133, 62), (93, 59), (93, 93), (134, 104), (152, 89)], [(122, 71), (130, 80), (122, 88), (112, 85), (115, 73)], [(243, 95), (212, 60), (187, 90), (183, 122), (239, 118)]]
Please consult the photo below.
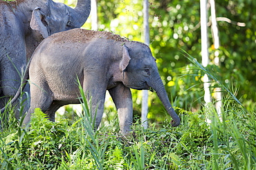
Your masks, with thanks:
[(90, 0), (78, 0), (75, 9), (52, 0), (0, 0), (0, 107), (16, 94), (37, 45), (55, 32), (80, 28), (90, 10)]

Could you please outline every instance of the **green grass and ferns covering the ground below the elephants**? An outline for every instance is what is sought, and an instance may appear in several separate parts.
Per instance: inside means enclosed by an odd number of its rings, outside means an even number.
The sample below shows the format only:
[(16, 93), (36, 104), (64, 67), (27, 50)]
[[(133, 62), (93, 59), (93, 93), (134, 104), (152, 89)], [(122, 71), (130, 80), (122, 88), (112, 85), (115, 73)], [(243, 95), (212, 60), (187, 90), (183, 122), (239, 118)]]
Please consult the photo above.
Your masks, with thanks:
[(213, 104), (193, 112), (176, 108), (179, 127), (166, 115), (161, 125), (149, 121), (144, 129), (136, 117), (128, 136), (118, 133), (116, 117), (94, 130), (82, 88), (84, 111), (73, 121), (53, 123), (36, 109), (23, 129), (9, 109), (0, 132), (0, 169), (255, 169), (256, 111), (223, 89), (221, 117)]

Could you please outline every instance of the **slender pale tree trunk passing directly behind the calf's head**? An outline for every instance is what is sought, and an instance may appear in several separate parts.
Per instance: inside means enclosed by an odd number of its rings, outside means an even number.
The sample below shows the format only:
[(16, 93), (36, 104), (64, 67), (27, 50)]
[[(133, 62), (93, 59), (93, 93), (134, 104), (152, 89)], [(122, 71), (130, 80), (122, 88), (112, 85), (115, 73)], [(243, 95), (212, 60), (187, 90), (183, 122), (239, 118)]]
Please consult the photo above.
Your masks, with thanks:
[[(143, 1), (143, 25), (144, 25), (144, 39), (145, 44), (149, 45), (149, 1)], [(147, 129), (147, 112), (148, 112), (148, 91), (143, 90), (143, 102), (142, 102), (142, 109), (141, 109), (141, 122), (145, 129)]]

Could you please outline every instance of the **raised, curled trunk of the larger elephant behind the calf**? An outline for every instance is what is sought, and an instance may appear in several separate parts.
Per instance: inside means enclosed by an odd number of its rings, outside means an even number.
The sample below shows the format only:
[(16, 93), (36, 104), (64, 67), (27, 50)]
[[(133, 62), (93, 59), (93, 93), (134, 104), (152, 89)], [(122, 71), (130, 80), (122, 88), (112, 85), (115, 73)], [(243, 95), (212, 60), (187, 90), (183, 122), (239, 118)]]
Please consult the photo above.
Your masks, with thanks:
[(73, 24), (75, 28), (80, 28), (84, 25), (85, 21), (89, 17), (91, 12), (91, 0), (77, 0), (77, 5), (74, 9), (75, 14), (71, 14), (73, 17)]

